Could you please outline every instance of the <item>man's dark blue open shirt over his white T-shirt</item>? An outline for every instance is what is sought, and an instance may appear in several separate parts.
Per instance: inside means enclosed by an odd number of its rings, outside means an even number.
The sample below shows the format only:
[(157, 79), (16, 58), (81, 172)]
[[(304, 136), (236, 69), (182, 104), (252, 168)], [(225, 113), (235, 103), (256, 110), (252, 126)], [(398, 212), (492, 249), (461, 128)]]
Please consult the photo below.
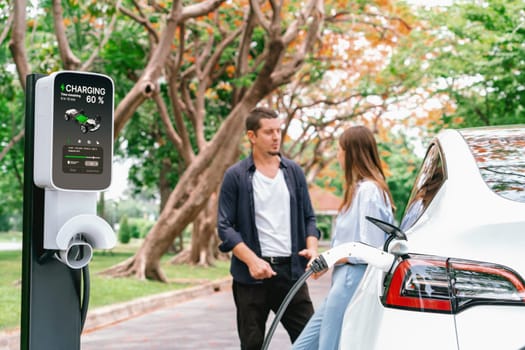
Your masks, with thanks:
[[(290, 216), (292, 238), (292, 278), (304, 273), (306, 259), (297, 253), (306, 248), (306, 237), (320, 237), (316, 227), (315, 214), (308, 193), (308, 186), (301, 168), (293, 161), (281, 157), (281, 171), (290, 192)], [(244, 242), (251, 250), (261, 256), (259, 236), (255, 226), (252, 179), (255, 172), (253, 157), (234, 164), (224, 174), (219, 196), (217, 227), (222, 243), (222, 252), (231, 251)], [(254, 284), (260, 281), (250, 276), (248, 267), (237, 257), (232, 257), (231, 274), (235, 281)]]

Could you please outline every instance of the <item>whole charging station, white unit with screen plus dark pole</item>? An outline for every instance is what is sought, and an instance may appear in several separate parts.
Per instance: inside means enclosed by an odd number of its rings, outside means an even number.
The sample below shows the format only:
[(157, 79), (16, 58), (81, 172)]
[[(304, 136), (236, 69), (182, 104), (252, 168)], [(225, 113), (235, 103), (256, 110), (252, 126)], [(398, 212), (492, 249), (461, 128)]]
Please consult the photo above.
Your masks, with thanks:
[(31, 74), (26, 84), (21, 349), (80, 349), (93, 249), (116, 244), (96, 215), (113, 162), (113, 81)]

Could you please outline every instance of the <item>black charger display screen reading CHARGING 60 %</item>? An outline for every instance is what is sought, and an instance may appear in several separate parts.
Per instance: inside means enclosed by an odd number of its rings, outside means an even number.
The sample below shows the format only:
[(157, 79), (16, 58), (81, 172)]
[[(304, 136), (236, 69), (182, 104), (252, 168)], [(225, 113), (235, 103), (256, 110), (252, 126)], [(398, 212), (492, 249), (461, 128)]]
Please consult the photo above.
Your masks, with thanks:
[(63, 189), (103, 190), (111, 183), (113, 82), (63, 72), (55, 77), (53, 182)]

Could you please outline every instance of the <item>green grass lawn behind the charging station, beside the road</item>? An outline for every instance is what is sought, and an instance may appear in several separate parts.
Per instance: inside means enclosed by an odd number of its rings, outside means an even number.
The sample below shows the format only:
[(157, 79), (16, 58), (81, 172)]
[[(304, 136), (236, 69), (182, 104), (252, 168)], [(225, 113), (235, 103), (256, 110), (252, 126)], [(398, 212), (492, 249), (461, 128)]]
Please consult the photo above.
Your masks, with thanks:
[[(91, 298), (89, 308), (94, 308), (140, 298), (146, 295), (187, 288), (203, 281), (212, 281), (229, 275), (229, 262), (219, 261), (215, 267), (204, 268), (190, 265), (172, 265), (171, 255), (161, 260), (161, 265), (170, 283), (139, 281), (134, 278), (109, 278), (100, 272), (133, 255), (137, 243), (117, 246), (109, 252), (95, 251), (90, 263)], [(21, 251), (0, 251), (0, 331), (20, 325), (21, 306)]]

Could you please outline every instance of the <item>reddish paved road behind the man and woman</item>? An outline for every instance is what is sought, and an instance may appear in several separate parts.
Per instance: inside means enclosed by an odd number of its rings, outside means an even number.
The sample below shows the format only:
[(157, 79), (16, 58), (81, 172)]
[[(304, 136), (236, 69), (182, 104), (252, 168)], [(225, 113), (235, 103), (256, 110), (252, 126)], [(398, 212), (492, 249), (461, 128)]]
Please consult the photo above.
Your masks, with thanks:
[[(308, 280), (314, 306), (324, 299), (330, 276)], [(273, 317), (273, 316), (272, 316)], [(268, 328), (271, 324), (268, 321)], [(147, 313), (82, 335), (82, 350), (195, 350), (240, 348), (231, 290), (223, 290)], [(279, 325), (270, 349), (288, 349), (290, 341)]]

